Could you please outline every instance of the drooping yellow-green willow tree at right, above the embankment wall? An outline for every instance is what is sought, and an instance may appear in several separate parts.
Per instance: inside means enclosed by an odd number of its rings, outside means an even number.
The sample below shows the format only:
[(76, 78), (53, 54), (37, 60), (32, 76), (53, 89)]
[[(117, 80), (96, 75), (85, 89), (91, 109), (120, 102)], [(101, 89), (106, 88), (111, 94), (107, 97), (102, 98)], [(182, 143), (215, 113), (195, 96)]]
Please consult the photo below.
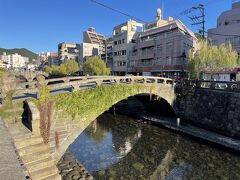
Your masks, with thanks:
[(199, 79), (201, 72), (207, 68), (211, 76), (223, 68), (237, 66), (238, 55), (231, 44), (209, 46), (206, 40), (199, 40), (199, 50), (188, 51), (188, 69), (192, 79)]

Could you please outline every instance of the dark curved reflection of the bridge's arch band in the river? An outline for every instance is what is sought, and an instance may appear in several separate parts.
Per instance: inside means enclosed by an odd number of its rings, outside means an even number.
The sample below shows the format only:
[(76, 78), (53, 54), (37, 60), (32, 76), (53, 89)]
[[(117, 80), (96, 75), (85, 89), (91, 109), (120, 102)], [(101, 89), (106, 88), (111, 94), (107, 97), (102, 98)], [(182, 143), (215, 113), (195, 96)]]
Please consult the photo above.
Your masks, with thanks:
[[(156, 177), (166, 176), (171, 170), (173, 159), (175, 157), (175, 150), (177, 148), (177, 138), (175, 135), (167, 136), (168, 132), (165, 130), (159, 130), (157, 134), (152, 133), (155, 128), (141, 128), (142, 135), (133, 144), (131, 152), (123, 157), (117, 164), (108, 167), (107, 171), (102, 173), (94, 173), (96, 179), (109, 179), (112, 177), (122, 177), (124, 179), (136, 179), (136, 175), (144, 174), (144, 179), (158, 179)], [(149, 134), (156, 135), (160, 143), (156, 143), (154, 139), (149, 138)], [(114, 138), (114, 137), (113, 137)], [(118, 138), (117, 136), (115, 138)], [(121, 139), (127, 139), (122, 136)], [(134, 136), (131, 136), (134, 138)], [(132, 164), (131, 164), (132, 163)], [(131, 169), (129, 173), (126, 168)]]

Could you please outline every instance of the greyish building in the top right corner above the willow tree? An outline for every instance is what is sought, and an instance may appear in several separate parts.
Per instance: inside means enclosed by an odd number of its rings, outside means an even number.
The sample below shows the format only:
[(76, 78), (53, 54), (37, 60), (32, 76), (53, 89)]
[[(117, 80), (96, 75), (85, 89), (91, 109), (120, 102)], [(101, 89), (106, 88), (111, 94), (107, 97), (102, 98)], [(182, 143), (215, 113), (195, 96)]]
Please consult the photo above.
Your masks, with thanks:
[(217, 27), (208, 30), (208, 39), (212, 45), (230, 42), (240, 53), (240, 1), (233, 3), (231, 10), (218, 17)]

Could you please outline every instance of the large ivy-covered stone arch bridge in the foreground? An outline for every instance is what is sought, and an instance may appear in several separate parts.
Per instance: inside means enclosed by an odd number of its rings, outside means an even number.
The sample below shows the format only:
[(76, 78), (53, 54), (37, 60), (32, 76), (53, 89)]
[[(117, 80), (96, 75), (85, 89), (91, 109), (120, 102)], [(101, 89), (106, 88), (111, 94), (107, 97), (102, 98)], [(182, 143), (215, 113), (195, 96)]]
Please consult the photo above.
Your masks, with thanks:
[[(59, 98), (54, 98), (56, 109), (52, 117), (48, 146), (56, 162), (62, 157), (68, 146), (74, 142), (93, 120), (121, 100), (139, 94), (155, 95), (164, 98), (169, 105), (176, 110), (175, 83), (172, 79), (168, 78), (136, 76), (73, 77), (45, 80), (44, 84), (47, 85), (50, 90), (69, 88), (69, 90), (72, 91), (54, 96)], [(26, 85), (29, 85), (29, 83), (22, 83), (19, 87)], [(90, 89), (86, 90), (86, 88)], [(109, 93), (109, 89), (111, 93)], [(96, 93), (94, 92), (95, 90)], [(15, 95), (37, 91), (37, 88), (18, 89)], [(81, 91), (82, 93), (80, 93)], [(94, 98), (97, 98), (98, 101), (95, 101), (89, 109), (85, 109), (83, 114), (76, 114), (76, 111), (68, 111), (67, 109), (71, 106), (71, 103), (74, 103), (74, 99), (83, 97), (84, 93), (86, 93), (86, 96), (94, 95)], [(83, 94), (83, 96), (79, 96), (79, 94)], [(66, 101), (64, 105), (59, 105), (67, 99), (68, 101)], [(102, 105), (101, 100), (104, 101), (106, 99), (110, 99), (109, 102)], [(91, 101), (92, 99), (82, 99), (82, 101), (89, 100)], [(84, 103), (81, 104), (84, 105)], [(33, 113), (32, 117), (28, 120), (32, 126), (32, 133), (39, 135), (40, 113), (36, 105), (32, 102), (28, 102), (28, 107)], [(81, 107), (76, 105), (75, 108)], [(65, 110), (68, 112), (65, 114), (62, 113), (62, 111)], [(72, 118), (73, 116), (74, 118)], [(58, 139), (58, 143), (56, 143), (56, 138)]]

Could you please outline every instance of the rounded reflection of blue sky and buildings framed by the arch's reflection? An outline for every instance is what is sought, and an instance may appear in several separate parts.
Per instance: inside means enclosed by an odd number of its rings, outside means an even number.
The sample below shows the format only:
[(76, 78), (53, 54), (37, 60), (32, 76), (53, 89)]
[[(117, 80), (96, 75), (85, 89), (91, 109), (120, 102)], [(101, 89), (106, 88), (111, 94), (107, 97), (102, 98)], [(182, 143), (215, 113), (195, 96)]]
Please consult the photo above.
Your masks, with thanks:
[(134, 121), (112, 118), (107, 114), (93, 121), (69, 148), (90, 172), (116, 164), (141, 137), (141, 129)]

